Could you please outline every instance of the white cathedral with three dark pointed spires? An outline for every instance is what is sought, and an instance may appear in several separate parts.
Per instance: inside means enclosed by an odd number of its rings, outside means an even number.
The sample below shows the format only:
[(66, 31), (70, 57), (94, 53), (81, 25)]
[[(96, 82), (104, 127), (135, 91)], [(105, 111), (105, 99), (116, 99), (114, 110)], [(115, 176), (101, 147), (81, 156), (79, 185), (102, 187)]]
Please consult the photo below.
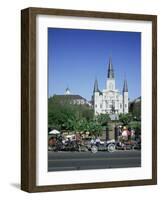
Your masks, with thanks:
[(122, 93), (115, 87), (115, 76), (111, 58), (109, 59), (106, 89), (101, 92), (98, 81), (95, 80), (93, 90), (93, 106), (95, 115), (101, 113), (115, 114), (128, 113), (128, 86), (124, 80)]

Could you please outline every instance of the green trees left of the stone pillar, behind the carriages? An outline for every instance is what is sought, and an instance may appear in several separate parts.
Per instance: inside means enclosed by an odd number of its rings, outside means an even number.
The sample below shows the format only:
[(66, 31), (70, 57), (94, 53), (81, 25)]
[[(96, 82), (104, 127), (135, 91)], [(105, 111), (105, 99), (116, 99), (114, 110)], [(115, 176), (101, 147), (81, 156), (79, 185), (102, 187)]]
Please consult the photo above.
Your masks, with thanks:
[(57, 96), (48, 100), (48, 126), (51, 128), (80, 133), (90, 132), (93, 136), (100, 136), (103, 126), (107, 126), (109, 120), (108, 114), (94, 117), (94, 110), (88, 105), (62, 102)]

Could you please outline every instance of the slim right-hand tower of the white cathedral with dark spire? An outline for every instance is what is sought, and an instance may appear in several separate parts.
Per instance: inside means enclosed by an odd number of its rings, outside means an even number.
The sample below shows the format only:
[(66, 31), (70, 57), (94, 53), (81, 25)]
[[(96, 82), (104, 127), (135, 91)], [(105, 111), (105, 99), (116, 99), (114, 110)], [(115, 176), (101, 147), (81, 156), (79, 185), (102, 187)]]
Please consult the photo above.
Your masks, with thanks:
[(129, 105), (128, 105), (128, 86), (127, 86), (127, 80), (124, 80), (124, 86), (123, 86), (123, 113), (129, 112)]

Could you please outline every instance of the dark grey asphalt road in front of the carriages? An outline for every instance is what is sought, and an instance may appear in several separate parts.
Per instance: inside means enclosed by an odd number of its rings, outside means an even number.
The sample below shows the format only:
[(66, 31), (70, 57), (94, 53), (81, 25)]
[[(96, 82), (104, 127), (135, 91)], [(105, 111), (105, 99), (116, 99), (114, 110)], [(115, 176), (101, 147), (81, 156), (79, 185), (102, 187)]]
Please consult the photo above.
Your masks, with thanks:
[(48, 171), (127, 168), (141, 166), (140, 151), (48, 152)]

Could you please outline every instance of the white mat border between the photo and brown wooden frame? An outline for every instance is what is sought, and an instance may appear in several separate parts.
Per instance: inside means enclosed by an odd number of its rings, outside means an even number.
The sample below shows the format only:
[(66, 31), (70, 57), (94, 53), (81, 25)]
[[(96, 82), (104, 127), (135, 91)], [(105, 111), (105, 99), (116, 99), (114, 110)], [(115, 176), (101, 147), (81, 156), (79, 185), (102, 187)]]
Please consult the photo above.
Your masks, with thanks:
[[(38, 15), (36, 21), (36, 184), (58, 185), (152, 178), (152, 24), (145, 21)], [(47, 168), (47, 28), (141, 32), (142, 166), (140, 168), (48, 172)], [(130, 66), (129, 66), (130, 67)]]

